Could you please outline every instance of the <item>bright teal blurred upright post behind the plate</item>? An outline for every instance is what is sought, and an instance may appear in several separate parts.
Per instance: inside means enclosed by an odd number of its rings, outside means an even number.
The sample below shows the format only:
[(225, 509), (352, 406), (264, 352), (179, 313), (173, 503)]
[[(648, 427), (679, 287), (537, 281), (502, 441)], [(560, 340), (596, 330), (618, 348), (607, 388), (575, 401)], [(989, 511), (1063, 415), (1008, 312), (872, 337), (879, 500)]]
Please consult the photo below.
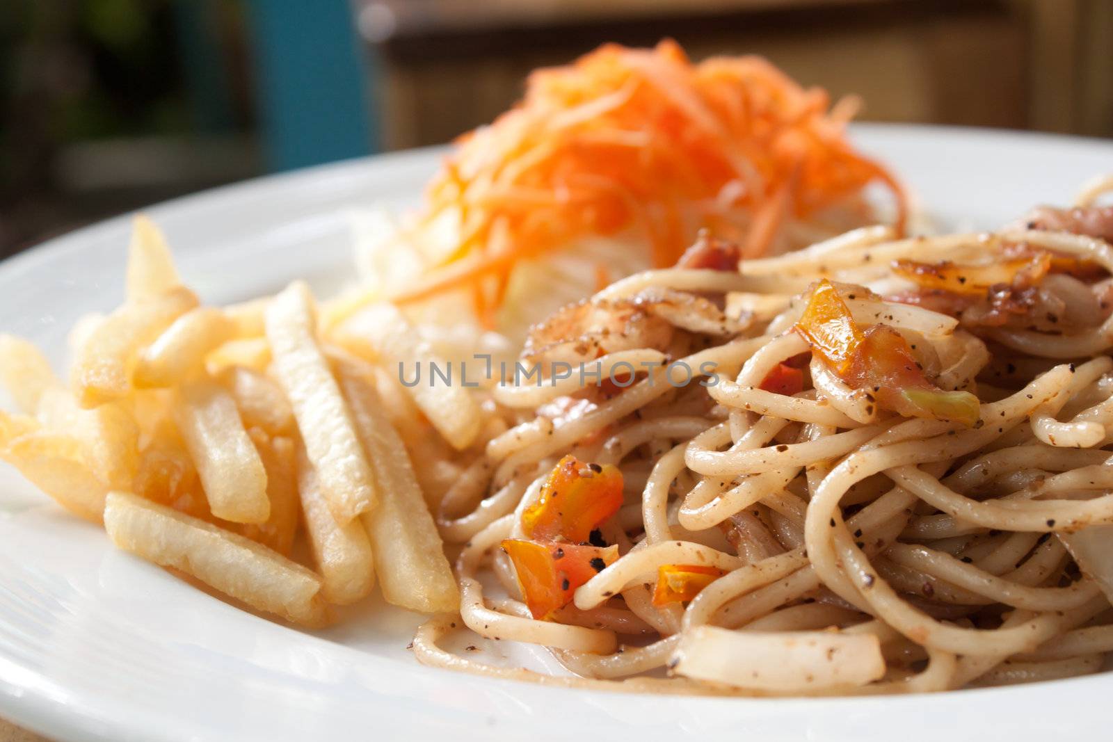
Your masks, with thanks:
[(372, 152), (377, 132), (346, 0), (250, 0), (263, 146), (272, 170)]

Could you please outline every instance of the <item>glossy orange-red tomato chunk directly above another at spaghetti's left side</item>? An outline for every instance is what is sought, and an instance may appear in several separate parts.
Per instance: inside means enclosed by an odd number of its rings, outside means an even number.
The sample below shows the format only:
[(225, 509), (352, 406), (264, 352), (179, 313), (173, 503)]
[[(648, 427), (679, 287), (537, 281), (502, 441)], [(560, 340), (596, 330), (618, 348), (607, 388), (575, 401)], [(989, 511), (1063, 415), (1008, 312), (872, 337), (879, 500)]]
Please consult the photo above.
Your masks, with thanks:
[(608, 464), (585, 464), (568, 455), (541, 486), (538, 502), (522, 514), (525, 535), (583, 543), (622, 506), (622, 472)]

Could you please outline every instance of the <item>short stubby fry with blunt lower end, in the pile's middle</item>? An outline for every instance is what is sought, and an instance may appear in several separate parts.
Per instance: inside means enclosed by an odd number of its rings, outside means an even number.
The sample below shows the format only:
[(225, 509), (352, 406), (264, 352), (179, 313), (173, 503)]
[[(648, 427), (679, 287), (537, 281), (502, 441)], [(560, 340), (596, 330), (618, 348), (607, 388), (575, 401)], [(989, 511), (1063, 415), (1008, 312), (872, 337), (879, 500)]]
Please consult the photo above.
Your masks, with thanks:
[(211, 382), (187, 384), (179, 394), (175, 417), (213, 515), (265, 523), (270, 517), (266, 468), (232, 395)]

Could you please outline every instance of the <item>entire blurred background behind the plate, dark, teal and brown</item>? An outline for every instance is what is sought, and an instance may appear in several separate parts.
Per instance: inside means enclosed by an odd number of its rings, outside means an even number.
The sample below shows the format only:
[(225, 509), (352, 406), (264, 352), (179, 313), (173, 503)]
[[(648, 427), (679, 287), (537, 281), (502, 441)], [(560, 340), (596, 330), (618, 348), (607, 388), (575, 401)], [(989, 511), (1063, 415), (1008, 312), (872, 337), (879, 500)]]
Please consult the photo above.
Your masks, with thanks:
[(253, 176), (434, 145), (534, 67), (672, 37), (860, 119), (1113, 136), (1107, 0), (0, 0), (0, 257)]

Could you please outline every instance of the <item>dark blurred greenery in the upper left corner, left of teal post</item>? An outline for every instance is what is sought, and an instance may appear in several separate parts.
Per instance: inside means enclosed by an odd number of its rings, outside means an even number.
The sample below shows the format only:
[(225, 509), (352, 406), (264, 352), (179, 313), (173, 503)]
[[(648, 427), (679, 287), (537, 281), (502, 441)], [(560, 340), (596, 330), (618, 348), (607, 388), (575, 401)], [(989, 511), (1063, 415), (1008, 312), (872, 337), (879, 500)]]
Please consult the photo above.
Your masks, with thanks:
[(0, 0), (0, 257), (176, 195), (76, 192), (59, 167), (75, 146), (252, 129), (243, 6)]

